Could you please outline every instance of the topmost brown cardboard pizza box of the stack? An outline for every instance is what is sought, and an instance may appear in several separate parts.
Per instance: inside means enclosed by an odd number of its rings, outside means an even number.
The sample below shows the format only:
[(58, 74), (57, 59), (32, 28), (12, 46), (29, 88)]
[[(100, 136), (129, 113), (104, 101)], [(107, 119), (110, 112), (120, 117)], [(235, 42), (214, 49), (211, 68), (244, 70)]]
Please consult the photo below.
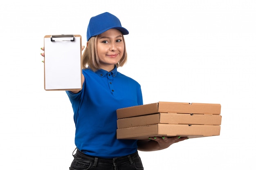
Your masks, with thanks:
[(158, 102), (117, 110), (117, 118), (149, 115), (152, 113), (194, 113), (220, 115), (220, 104)]

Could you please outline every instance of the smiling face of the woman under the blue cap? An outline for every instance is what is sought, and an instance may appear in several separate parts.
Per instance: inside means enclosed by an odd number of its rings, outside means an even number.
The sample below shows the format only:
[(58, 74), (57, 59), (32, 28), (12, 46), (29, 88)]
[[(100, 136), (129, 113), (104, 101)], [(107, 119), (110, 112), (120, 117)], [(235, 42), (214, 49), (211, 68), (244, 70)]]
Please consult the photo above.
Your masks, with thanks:
[(97, 51), (99, 67), (111, 71), (124, 55), (124, 41), (122, 33), (117, 29), (109, 29), (98, 35)]

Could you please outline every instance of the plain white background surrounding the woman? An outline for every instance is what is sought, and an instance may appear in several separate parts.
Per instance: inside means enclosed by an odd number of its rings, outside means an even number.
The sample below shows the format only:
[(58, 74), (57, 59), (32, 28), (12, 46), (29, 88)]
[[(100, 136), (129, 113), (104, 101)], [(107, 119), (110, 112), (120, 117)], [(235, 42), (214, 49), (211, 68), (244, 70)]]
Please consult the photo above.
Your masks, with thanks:
[[(92, 16), (116, 15), (129, 30), (128, 63), (144, 104), (221, 104), (220, 136), (139, 152), (145, 170), (255, 167), (256, 1), (45, 0), (0, 2), (0, 164), (68, 170), (74, 122), (63, 91), (45, 91), (43, 38), (80, 34)], [(91, 138), (95, 138), (91, 136)]]

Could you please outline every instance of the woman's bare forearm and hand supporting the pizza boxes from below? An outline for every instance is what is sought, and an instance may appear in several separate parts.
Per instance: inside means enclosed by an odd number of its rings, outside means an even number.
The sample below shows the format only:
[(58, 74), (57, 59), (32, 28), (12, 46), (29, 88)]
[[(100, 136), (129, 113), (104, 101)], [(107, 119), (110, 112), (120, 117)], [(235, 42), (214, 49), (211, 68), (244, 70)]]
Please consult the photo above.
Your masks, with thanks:
[(174, 143), (189, 139), (188, 137), (150, 137), (148, 140), (138, 140), (138, 150), (155, 151), (168, 148)]

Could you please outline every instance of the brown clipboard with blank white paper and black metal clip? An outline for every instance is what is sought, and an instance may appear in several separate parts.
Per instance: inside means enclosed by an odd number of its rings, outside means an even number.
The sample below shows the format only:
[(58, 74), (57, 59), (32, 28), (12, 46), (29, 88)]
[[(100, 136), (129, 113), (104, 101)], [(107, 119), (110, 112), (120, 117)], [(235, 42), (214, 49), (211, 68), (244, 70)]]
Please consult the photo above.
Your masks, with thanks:
[(44, 84), (46, 91), (82, 89), (81, 35), (45, 35)]

